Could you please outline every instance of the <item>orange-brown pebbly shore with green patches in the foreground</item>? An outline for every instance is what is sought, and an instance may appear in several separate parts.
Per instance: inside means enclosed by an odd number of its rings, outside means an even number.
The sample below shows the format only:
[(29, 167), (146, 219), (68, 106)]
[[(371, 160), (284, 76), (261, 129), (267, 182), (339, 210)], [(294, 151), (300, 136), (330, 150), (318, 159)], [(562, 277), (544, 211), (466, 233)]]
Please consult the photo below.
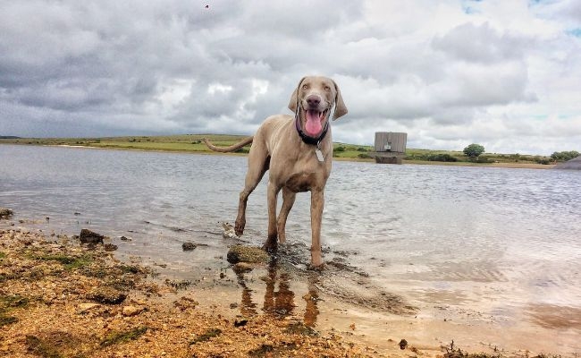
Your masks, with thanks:
[(156, 282), (151, 268), (115, 260), (105, 248), (0, 229), (0, 355), (383, 356), (298, 318), (204, 307), (197, 294)]

